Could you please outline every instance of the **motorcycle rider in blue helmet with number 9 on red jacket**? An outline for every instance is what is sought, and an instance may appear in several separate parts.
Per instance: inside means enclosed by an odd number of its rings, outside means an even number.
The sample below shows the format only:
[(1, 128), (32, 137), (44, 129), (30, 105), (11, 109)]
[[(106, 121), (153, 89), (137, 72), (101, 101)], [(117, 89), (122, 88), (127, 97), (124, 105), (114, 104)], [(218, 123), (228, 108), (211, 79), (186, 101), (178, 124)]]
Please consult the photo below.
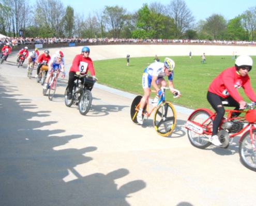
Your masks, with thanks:
[[(68, 78), (68, 99), (72, 97), (72, 90), (74, 86), (74, 80), (77, 79), (75, 74), (84, 75), (87, 74), (88, 70), (90, 71), (91, 75), (95, 78), (95, 71), (93, 66), (93, 61), (89, 58), (90, 49), (87, 46), (82, 48), (82, 53), (74, 57), (72, 66), (69, 70), (69, 78)], [(97, 78), (96, 78), (97, 79)]]

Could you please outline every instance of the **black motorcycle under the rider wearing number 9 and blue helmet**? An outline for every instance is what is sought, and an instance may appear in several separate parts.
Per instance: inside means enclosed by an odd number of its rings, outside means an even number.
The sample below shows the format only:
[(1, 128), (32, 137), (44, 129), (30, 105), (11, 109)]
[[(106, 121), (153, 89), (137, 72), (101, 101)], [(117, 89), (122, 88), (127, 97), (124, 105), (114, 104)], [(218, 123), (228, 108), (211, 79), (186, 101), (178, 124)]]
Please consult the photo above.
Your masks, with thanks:
[(91, 108), (93, 100), (91, 91), (97, 79), (87, 74), (78, 75), (77, 78), (74, 81), (71, 99), (68, 99), (68, 87), (65, 91), (65, 104), (67, 107), (78, 105), (80, 114), (85, 115)]

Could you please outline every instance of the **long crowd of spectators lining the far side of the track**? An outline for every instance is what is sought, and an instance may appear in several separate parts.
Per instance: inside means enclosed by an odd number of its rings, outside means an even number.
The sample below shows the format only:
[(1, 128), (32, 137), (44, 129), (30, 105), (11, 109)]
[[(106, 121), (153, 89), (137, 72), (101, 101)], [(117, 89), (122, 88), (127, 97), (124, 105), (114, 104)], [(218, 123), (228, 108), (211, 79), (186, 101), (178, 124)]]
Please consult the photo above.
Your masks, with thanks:
[(5, 43), (10, 45), (26, 44), (54, 44), (54, 43), (84, 43), (84, 42), (124, 42), (124, 43), (207, 43), (207, 44), (256, 44), (256, 41), (225, 41), (225, 40), (188, 40), (188, 39), (125, 39), (125, 38), (2, 38), (0, 45)]

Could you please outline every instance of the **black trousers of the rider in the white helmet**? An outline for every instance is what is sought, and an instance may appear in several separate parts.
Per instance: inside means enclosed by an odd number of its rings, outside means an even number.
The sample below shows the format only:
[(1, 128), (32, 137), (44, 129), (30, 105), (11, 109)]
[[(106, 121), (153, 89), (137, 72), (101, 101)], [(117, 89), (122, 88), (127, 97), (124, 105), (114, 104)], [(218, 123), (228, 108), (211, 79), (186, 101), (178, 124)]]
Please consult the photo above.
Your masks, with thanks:
[[(207, 100), (217, 113), (213, 121), (213, 135), (216, 135), (218, 132), (221, 119), (225, 114), (225, 109), (222, 105), (222, 101), (227, 101), (228, 102), (227, 107), (235, 107), (235, 110), (239, 110), (240, 106), (239, 106), (239, 103), (232, 96), (229, 96), (228, 98), (222, 98), (212, 92), (207, 92)], [(239, 112), (236, 112), (236, 113), (234, 112), (232, 113), (232, 116), (238, 116), (239, 114), (240, 114)]]

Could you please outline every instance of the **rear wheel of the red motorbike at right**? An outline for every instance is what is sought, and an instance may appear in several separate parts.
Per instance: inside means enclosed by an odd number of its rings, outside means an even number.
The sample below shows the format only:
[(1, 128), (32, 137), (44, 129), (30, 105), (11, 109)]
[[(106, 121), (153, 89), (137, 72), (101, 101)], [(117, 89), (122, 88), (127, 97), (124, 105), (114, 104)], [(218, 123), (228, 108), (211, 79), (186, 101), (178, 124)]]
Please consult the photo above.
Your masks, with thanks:
[[(213, 130), (213, 119), (209, 118), (210, 115), (208, 112), (204, 111), (204, 110), (199, 110), (197, 112), (195, 112), (190, 118), (189, 121), (191, 122), (195, 122), (198, 125), (202, 125), (203, 129), (205, 131), (208, 131), (210, 133), (210, 135), (208, 134), (198, 134), (193, 132), (192, 130), (188, 129), (188, 139), (190, 141), (190, 143), (197, 148), (200, 149), (204, 149), (208, 146), (210, 146), (210, 142), (209, 142), (209, 137), (212, 134), (212, 130)], [(208, 119), (206, 121), (206, 119)]]

